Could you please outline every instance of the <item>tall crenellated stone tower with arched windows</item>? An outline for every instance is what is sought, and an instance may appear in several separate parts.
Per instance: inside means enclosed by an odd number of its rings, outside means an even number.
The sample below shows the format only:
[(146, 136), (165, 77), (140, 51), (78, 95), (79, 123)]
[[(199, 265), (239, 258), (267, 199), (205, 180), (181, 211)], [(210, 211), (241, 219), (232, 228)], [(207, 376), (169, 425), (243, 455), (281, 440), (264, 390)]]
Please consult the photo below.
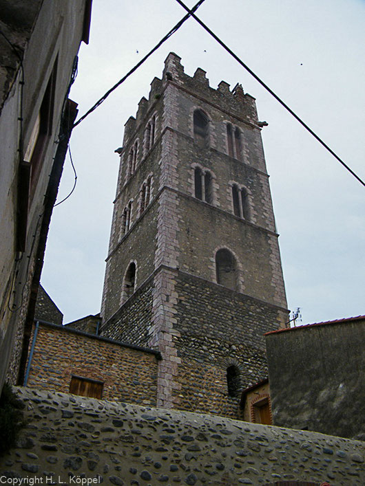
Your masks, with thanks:
[(237, 417), (288, 320), (262, 125), (174, 53), (125, 124), (101, 333), (160, 351), (158, 406)]

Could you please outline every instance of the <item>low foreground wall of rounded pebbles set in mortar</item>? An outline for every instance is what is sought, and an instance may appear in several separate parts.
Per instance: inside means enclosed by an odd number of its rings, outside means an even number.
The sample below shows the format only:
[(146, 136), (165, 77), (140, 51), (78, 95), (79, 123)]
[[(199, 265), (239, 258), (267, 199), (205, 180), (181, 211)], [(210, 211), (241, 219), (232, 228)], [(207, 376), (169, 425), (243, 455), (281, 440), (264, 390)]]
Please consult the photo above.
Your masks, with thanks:
[[(364, 443), (176, 410), (16, 388), (28, 425), (2, 482), (72, 485), (365, 483)], [(46, 483), (47, 481), (47, 483)], [(33, 483), (35, 484), (35, 483)]]

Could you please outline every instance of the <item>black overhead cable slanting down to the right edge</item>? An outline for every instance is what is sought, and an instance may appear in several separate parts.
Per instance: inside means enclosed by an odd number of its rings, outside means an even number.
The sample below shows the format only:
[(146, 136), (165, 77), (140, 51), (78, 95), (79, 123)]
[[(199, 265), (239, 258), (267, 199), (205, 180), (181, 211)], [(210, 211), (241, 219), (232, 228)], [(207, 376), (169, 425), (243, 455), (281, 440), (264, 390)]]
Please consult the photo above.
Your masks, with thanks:
[(182, 0), (176, 0), (183, 8), (185, 8), (185, 10), (192, 16), (194, 17), (194, 19), (203, 27), (203, 29), (205, 29), (214, 39), (216, 39), (216, 41), (223, 47), (223, 49), (225, 49), (229, 54), (231, 54), (231, 56), (233, 58), (236, 59), (236, 61), (242, 66), (244, 67), (244, 69), (246, 69), (249, 74), (251, 74), (251, 76), (253, 76), (253, 78), (255, 78), (255, 80), (257, 80), (258, 82), (260, 82), (260, 85), (262, 85), (262, 87), (264, 87), (264, 89), (266, 89), (267, 91), (269, 91), (269, 93), (275, 98), (275, 100), (277, 100), (287, 111), (289, 111), (289, 113), (291, 115), (293, 115), (293, 117), (295, 118), (295, 120), (297, 120), (298, 122), (300, 122), (300, 124), (302, 126), (304, 126), (304, 128), (309, 131), (309, 133), (311, 133), (311, 135), (313, 135), (313, 137), (315, 137), (315, 139), (317, 140), (317, 142), (320, 142), (320, 144), (322, 144), (322, 146), (324, 146), (324, 148), (326, 148), (328, 150), (329, 153), (331, 153), (331, 155), (333, 155), (333, 157), (335, 157), (335, 159), (338, 160), (338, 162), (340, 162), (340, 164), (342, 164), (344, 166), (344, 168), (346, 168), (348, 170), (349, 173), (351, 173), (353, 175), (353, 177), (355, 177), (363, 186), (365, 186), (365, 182), (360, 179), (360, 177), (355, 174), (355, 172), (347, 165), (345, 164), (345, 162), (340, 159), (340, 157), (335, 153), (333, 152), (333, 150), (296, 114), (294, 113), (294, 111), (289, 108), (289, 106), (281, 99), (279, 98), (279, 96), (277, 94), (275, 94), (273, 92), (272, 89), (269, 88), (269, 86), (267, 86), (264, 81), (262, 81), (258, 76), (257, 74), (255, 74), (246, 64), (244, 64), (244, 62), (231, 50), (229, 49), (229, 47), (223, 42), (220, 40), (220, 38), (218, 36), (216, 36), (216, 34), (214, 34), (214, 32), (212, 32), (209, 27), (207, 27), (207, 25), (205, 25), (204, 22), (202, 22), (197, 16), (196, 14), (194, 14), (194, 9), (189, 9), (187, 7), (187, 5), (185, 5), (185, 3), (182, 1)]

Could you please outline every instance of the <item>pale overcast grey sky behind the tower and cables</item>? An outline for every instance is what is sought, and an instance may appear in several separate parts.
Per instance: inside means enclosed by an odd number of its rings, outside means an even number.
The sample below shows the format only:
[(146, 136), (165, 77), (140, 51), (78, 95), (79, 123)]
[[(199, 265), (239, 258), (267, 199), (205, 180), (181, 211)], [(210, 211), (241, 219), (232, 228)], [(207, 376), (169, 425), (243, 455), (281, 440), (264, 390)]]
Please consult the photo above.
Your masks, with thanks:
[[(90, 44), (79, 52), (70, 95), (80, 114), (184, 14), (175, 0), (93, 0)], [(197, 14), (365, 178), (364, 0), (206, 0)], [(212, 87), (242, 83), (269, 123), (262, 137), (289, 309), (301, 307), (303, 323), (364, 314), (364, 186), (189, 19), (72, 133), (78, 182), (54, 208), (41, 278), (64, 322), (100, 310), (119, 162), (114, 149), (170, 51), (187, 74), (205, 69)], [(67, 158), (59, 200), (72, 184)]]

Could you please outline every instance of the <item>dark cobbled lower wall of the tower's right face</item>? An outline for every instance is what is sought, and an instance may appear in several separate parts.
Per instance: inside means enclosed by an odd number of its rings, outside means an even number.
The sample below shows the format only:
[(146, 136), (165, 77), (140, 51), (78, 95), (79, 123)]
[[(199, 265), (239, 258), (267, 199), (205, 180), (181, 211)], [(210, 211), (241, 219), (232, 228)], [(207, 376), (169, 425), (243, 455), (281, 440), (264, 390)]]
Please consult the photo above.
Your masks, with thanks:
[(179, 335), (173, 342), (181, 360), (176, 406), (239, 417), (239, 396), (228, 395), (227, 368), (238, 367), (240, 390), (267, 377), (263, 335), (278, 329), (286, 311), (183, 272), (175, 280)]

